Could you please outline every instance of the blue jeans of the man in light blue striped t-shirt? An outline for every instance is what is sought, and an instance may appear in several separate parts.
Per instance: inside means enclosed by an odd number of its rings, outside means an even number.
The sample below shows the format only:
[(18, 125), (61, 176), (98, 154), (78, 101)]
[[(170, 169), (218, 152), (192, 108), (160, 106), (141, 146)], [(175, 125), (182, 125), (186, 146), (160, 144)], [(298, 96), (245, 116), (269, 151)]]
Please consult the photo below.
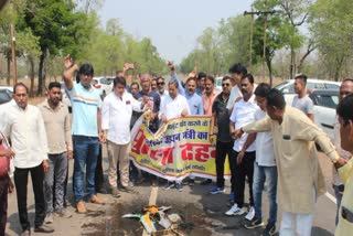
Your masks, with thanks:
[(86, 192), (87, 197), (96, 194), (95, 172), (99, 154), (99, 141), (97, 137), (73, 136), (75, 162), (74, 162), (74, 194), (75, 201), (83, 201), (84, 192), (84, 169), (86, 165)]

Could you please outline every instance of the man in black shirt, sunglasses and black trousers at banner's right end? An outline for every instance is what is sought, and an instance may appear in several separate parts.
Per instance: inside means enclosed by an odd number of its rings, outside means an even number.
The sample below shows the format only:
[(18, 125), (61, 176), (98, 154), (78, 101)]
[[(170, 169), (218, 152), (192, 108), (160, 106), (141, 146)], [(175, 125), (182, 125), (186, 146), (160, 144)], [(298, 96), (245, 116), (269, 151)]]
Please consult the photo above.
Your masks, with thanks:
[[(216, 173), (217, 182), (212, 187), (211, 194), (224, 193), (224, 162), (226, 155), (228, 155), (231, 172), (234, 171), (234, 162), (231, 161), (231, 154), (233, 150), (233, 140), (229, 132), (229, 114), (226, 108), (229, 94), (232, 89), (232, 82), (229, 76), (225, 76), (222, 79), (222, 93), (215, 98), (212, 106), (212, 120), (210, 136), (216, 135)], [(217, 133), (214, 133), (214, 128), (217, 127)], [(233, 179), (231, 180), (233, 183)], [(234, 192), (234, 184), (232, 184), (232, 191)]]

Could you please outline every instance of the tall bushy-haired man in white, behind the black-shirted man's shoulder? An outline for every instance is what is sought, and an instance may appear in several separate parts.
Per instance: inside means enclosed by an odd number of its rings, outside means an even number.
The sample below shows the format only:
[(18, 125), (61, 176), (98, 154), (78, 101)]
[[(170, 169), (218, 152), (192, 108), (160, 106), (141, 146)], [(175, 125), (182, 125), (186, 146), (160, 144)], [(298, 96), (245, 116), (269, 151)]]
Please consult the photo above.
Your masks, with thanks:
[(232, 74), (233, 87), (227, 103), (227, 109), (231, 115), (235, 103), (239, 101), (243, 97), (243, 94), (240, 92), (240, 81), (242, 77), (247, 74), (247, 69), (240, 63), (236, 63), (232, 65), (232, 67), (229, 68), (229, 73)]

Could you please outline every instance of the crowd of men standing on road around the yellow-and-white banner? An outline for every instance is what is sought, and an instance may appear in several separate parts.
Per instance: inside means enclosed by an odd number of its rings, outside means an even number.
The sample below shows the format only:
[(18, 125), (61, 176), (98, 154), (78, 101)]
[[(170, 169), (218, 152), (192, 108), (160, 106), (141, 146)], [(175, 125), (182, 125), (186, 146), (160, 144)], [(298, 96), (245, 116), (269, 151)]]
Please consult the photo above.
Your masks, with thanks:
[[(114, 197), (121, 192), (135, 192), (135, 184), (158, 178), (137, 170), (129, 161), (131, 128), (140, 116), (148, 120), (151, 132), (168, 120), (185, 116), (210, 116), (210, 137), (216, 136), (216, 182), (211, 194), (225, 193), (224, 167), (228, 158), (231, 208), (228, 216), (243, 215), (245, 183), (248, 182), (249, 207), (244, 227), (264, 226), (263, 191), (267, 189), (269, 217), (263, 235), (274, 235), (277, 223), (277, 200), (281, 206), (279, 234), (311, 235), (317, 199), (324, 192), (323, 174), (318, 161), (315, 143), (333, 162), (333, 189), (338, 199), (336, 235), (353, 229), (353, 184), (351, 154), (353, 152), (353, 81), (340, 87), (340, 104), (333, 146), (328, 136), (313, 124), (312, 101), (306, 94), (307, 76), (296, 77), (297, 96), (292, 107), (282, 94), (268, 84), (256, 86), (254, 76), (239, 63), (231, 66), (231, 76), (222, 79), (222, 92), (214, 88), (214, 77), (203, 72), (189, 74), (185, 85), (168, 63), (171, 79), (148, 73), (139, 75), (140, 83), (130, 87), (126, 72), (133, 68), (126, 63), (114, 78), (113, 93), (101, 100), (93, 86), (94, 67), (78, 66), (67, 56), (63, 79), (73, 106), (72, 118), (61, 101), (61, 84), (49, 85), (49, 96), (39, 107), (28, 104), (28, 87), (19, 83), (13, 88), (14, 103), (0, 110), (0, 167), (14, 165), (14, 185), (21, 235), (31, 235), (26, 210), (28, 174), (31, 173), (35, 195), (34, 232), (52, 233), (54, 217), (72, 217), (65, 208), (68, 160), (74, 159), (73, 190), (77, 213), (86, 213), (85, 202), (103, 204), (96, 192), (96, 171), (101, 169), (101, 146), (108, 150), (108, 185)], [(77, 73), (77, 83), (73, 77)], [(4, 109), (4, 108), (2, 108)], [(7, 147), (7, 138), (11, 147)], [(4, 148), (3, 148), (4, 147)], [(13, 158), (14, 157), (14, 158)], [(4, 161), (2, 164), (2, 161)], [(7, 194), (13, 191), (11, 171), (0, 172), (0, 236), (7, 222)], [(85, 171), (86, 170), (86, 173)], [(336, 171), (338, 170), (338, 171)], [(85, 176), (86, 174), (86, 176)], [(189, 185), (194, 185), (190, 176)], [(86, 189), (84, 187), (86, 180)], [(98, 181), (99, 182), (99, 181)], [(100, 181), (101, 182), (101, 181)], [(212, 180), (203, 180), (203, 184)], [(99, 187), (97, 186), (99, 184)], [(163, 187), (182, 191), (182, 182), (168, 182)], [(343, 195), (343, 197), (342, 197)]]

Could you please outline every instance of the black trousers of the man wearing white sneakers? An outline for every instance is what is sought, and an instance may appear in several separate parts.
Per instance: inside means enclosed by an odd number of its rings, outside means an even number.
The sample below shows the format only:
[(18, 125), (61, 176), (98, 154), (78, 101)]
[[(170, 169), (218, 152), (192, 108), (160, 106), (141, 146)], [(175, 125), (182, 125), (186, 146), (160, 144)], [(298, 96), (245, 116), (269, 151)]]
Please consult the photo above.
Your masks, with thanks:
[(238, 152), (232, 152), (232, 161), (235, 163), (235, 173), (233, 174), (234, 184), (235, 184), (235, 194), (234, 194), (234, 203), (238, 205), (238, 207), (243, 207), (244, 205), (244, 190), (245, 190), (245, 178), (247, 176), (248, 185), (249, 185), (249, 204), (254, 206), (254, 194), (253, 194), (253, 180), (254, 180), (254, 161), (255, 161), (255, 151), (245, 152), (243, 157), (243, 161), (240, 164), (236, 164), (236, 157)]

